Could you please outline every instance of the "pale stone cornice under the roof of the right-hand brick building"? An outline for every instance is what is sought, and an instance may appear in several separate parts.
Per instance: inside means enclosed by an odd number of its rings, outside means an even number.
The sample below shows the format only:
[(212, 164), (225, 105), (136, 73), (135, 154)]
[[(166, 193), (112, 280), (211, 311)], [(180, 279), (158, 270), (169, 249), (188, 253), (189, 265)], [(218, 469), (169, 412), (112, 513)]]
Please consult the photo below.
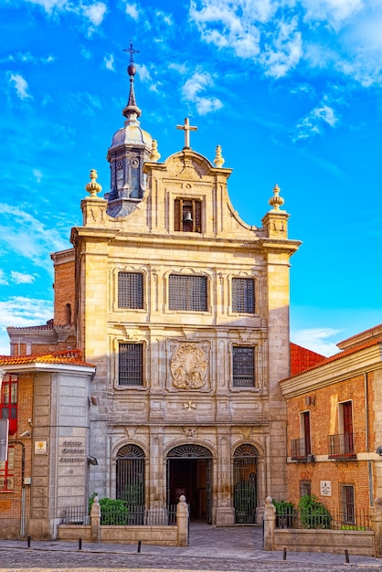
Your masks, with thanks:
[(382, 368), (382, 344), (375, 344), (350, 355), (317, 365), (297, 376), (282, 379), (282, 395), (286, 398), (330, 386), (350, 377)]

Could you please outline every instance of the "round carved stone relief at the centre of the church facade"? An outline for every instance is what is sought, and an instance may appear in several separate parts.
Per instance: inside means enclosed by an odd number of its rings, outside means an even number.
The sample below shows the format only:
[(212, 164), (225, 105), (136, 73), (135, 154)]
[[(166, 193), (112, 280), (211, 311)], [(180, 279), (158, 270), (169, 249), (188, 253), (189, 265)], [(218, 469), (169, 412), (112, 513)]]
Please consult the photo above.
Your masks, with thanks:
[(206, 383), (207, 357), (197, 344), (181, 344), (171, 358), (173, 384), (178, 389), (198, 389)]

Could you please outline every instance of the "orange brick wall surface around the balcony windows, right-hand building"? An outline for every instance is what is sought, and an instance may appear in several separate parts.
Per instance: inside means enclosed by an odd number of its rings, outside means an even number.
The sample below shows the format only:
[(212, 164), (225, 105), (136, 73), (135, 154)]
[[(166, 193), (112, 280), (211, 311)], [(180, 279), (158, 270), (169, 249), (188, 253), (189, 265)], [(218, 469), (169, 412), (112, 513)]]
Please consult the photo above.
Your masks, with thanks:
[[(301, 481), (312, 482), (312, 493), (333, 511), (341, 508), (342, 484), (355, 486), (355, 506), (369, 506), (369, 461), (367, 450), (375, 450), (373, 412), (373, 374), (368, 375), (368, 444), (366, 445), (366, 392), (364, 374), (321, 387), (298, 397), (291, 397), (288, 404), (288, 455), (291, 455), (291, 440), (300, 439), (300, 416), (310, 411), (311, 442), (314, 462), (290, 462), (288, 464), (288, 500), (298, 503)], [(308, 399), (306, 399), (308, 397)], [(310, 399), (309, 399), (310, 397)], [(307, 405), (311, 401), (311, 404)], [(342, 432), (339, 426), (338, 404), (351, 401), (353, 405), (353, 428), (357, 460), (328, 460), (328, 435)], [(372, 463), (374, 471), (374, 462)], [(332, 483), (332, 496), (321, 494), (320, 482)], [(375, 492), (373, 492), (375, 496)]]

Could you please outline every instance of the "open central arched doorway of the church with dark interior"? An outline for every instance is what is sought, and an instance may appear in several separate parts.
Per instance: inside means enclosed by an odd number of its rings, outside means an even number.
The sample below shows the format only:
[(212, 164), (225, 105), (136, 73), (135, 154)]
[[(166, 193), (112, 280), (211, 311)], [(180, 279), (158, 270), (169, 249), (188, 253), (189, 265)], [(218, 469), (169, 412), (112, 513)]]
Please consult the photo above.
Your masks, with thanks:
[(167, 504), (184, 494), (190, 518), (211, 523), (212, 453), (201, 445), (179, 445), (167, 454)]

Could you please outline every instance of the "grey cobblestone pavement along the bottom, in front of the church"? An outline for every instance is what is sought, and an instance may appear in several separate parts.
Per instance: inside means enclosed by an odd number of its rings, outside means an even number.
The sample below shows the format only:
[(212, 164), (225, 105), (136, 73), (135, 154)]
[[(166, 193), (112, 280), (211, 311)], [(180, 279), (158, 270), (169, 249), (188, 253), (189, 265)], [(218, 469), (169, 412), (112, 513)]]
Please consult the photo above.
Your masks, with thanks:
[(366, 572), (381, 570), (382, 560), (367, 556), (330, 553), (264, 552), (261, 529), (242, 526), (214, 528), (192, 524), (190, 546), (166, 547), (69, 542), (34, 542), (27, 548), (22, 541), (0, 540), (0, 572)]

